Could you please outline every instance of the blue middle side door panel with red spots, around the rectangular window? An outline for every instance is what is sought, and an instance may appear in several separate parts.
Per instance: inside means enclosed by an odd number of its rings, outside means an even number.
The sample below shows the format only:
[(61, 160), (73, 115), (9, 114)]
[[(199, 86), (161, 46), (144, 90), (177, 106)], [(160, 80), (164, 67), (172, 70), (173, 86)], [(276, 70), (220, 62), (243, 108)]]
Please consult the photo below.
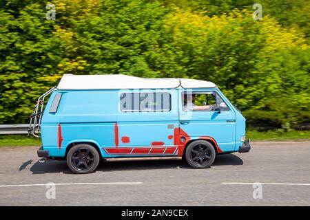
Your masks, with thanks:
[[(132, 91), (133, 93), (136, 91)], [(118, 104), (119, 147), (174, 146), (174, 128), (178, 127), (178, 100), (176, 89), (156, 91), (143, 89), (141, 93), (168, 93), (169, 111), (124, 112)]]

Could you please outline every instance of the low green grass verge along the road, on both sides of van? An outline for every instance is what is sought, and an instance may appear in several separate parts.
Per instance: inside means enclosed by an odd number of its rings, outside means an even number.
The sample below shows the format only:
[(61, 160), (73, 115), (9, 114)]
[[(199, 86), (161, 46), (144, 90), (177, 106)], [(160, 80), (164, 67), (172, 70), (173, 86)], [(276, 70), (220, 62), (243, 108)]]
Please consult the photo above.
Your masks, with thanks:
[[(260, 132), (254, 129), (247, 131), (251, 141), (303, 141), (310, 140), (310, 131), (271, 130)], [(0, 135), (1, 146), (41, 146), (41, 139), (27, 135)]]

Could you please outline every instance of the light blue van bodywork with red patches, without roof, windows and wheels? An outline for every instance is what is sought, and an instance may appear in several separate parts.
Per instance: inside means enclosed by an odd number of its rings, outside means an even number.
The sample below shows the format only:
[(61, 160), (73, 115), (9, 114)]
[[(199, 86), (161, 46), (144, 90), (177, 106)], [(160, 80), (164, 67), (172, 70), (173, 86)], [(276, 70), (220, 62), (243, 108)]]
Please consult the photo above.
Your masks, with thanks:
[[(229, 111), (182, 109), (183, 88), (54, 90), (41, 121), (43, 149), (51, 157), (65, 157), (72, 143), (89, 142), (99, 147), (102, 157), (180, 156), (189, 140), (214, 140), (218, 153), (238, 151), (245, 135), (245, 118), (218, 88)], [(123, 92), (169, 93), (169, 111), (122, 111)], [(56, 112), (50, 113), (55, 94), (61, 93)], [(183, 123), (185, 122), (185, 123)], [(188, 122), (188, 123), (187, 123)], [(181, 141), (181, 137), (185, 140)]]

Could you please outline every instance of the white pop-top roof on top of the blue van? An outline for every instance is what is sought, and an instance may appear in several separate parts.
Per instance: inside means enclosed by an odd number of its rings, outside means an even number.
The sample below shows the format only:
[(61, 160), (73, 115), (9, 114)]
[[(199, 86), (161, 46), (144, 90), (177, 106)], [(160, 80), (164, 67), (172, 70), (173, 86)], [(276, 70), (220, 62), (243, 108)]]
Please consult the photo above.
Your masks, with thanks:
[(140, 78), (127, 75), (72, 75), (65, 74), (57, 89), (172, 89), (214, 88), (204, 80), (188, 78)]

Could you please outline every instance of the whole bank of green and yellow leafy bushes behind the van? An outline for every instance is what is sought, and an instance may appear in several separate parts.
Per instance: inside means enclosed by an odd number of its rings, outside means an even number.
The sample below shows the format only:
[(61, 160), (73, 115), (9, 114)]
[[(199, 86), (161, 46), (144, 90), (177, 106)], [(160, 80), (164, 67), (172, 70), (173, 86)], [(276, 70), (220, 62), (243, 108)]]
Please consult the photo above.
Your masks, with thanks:
[(249, 123), (310, 120), (307, 1), (257, 1), (262, 21), (248, 0), (51, 3), (56, 21), (45, 3), (0, 3), (0, 123), (28, 122), (63, 74), (211, 80)]

